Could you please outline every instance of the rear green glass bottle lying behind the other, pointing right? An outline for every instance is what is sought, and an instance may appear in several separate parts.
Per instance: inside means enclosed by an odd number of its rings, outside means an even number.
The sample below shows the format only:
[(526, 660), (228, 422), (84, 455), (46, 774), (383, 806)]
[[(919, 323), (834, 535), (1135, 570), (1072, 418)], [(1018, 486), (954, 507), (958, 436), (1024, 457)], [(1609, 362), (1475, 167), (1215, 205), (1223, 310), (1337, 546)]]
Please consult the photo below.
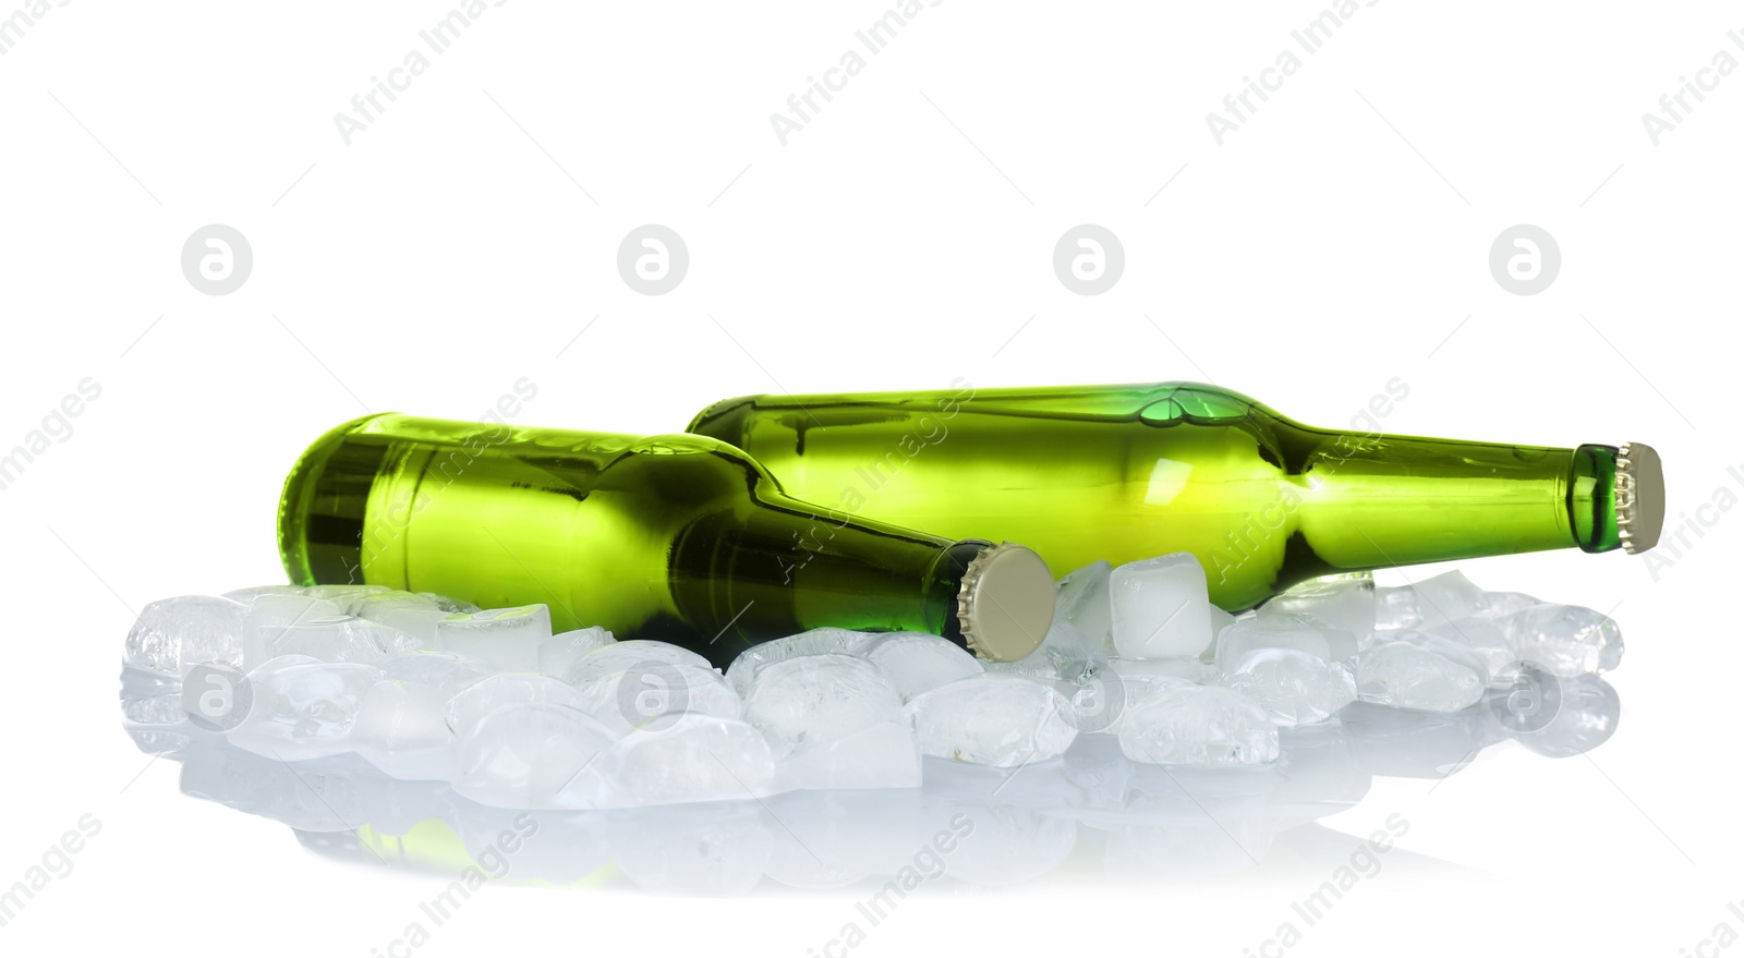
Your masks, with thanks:
[(1645, 445), (1578, 448), (1315, 429), (1165, 382), (743, 396), (689, 428), (783, 489), (947, 536), (1006, 536), (1057, 571), (1189, 551), (1247, 609), (1332, 572), (1578, 546), (1650, 548)]

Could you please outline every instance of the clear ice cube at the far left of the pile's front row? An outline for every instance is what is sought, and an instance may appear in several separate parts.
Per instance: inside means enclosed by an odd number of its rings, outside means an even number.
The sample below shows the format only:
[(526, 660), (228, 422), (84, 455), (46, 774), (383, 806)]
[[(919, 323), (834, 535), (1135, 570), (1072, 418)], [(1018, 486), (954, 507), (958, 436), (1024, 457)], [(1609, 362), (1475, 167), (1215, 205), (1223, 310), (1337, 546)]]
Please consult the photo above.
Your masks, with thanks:
[(347, 738), (370, 688), (384, 674), (373, 665), (283, 656), (248, 674), (251, 705), (225, 736), (276, 759), (314, 759), (351, 749)]

